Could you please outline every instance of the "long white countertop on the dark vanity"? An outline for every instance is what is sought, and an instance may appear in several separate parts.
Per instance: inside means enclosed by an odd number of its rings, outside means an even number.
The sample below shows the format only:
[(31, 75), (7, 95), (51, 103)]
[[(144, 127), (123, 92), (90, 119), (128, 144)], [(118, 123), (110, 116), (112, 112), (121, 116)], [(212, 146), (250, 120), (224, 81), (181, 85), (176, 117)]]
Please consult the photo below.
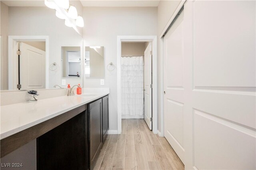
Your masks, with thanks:
[(86, 96), (86, 94), (81, 94), (75, 96), (60, 96), (38, 100), (38, 102), (25, 102), (1, 106), (0, 139), (9, 137), (76, 107), (88, 104), (108, 95), (109, 92), (93, 94), (95, 95)]

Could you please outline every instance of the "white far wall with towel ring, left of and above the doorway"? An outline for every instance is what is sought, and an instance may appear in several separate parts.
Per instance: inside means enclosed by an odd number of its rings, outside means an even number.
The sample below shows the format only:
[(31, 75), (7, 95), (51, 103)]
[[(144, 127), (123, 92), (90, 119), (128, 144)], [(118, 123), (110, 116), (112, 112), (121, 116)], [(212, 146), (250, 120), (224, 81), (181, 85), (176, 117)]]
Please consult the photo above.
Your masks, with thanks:
[(85, 87), (109, 87), (110, 130), (117, 130), (117, 72), (106, 69), (116, 65), (118, 35), (157, 35), (156, 7), (84, 7), (84, 46), (104, 46), (105, 85), (100, 79), (84, 79)]

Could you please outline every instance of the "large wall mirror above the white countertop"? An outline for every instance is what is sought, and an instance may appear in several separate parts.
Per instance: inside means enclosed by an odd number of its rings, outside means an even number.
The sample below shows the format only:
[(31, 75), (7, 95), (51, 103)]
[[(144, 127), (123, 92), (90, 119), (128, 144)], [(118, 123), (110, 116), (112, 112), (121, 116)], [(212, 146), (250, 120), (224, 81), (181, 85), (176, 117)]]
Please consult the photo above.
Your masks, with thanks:
[[(80, 1), (70, 3), (82, 15)], [(66, 26), (44, 1), (1, 0), (0, 8), (1, 90), (83, 86), (82, 28)]]

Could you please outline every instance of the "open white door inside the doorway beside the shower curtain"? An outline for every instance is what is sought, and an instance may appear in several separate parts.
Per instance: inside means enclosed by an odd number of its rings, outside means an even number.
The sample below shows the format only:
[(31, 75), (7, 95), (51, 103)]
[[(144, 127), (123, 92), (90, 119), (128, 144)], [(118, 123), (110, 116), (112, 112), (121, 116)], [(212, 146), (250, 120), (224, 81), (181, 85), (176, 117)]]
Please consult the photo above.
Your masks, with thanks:
[(144, 119), (149, 127), (152, 130), (152, 43), (148, 44), (144, 52)]

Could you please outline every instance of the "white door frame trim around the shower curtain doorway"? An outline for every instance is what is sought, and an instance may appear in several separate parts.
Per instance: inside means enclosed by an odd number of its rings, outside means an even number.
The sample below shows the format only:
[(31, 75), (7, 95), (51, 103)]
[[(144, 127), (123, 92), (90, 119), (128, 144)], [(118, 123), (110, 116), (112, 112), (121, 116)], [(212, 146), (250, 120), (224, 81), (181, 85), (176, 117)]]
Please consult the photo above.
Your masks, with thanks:
[(122, 131), (121, 104), (121, 43), (122, 42), (152, 42), (152, 132), (157, 134), (157, 36), (117, 36), (117, 133)]

